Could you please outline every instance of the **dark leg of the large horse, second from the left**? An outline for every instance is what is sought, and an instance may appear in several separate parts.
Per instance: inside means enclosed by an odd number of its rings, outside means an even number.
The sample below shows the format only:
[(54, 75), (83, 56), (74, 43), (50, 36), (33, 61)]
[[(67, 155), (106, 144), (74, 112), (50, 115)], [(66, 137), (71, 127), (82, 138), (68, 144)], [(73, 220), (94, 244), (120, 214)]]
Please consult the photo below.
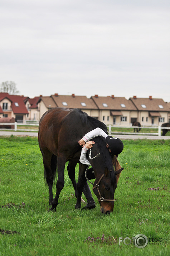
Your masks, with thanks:
[(65, 157), (64, 156), (58, 156), (58, 180), (56, 184), (56, 195), (54, 200), (52, 201), (52, 208), (51, 211), (55, 211), (57, 204), (58, 204), (58, 198), (60, 195), (61, 190), (64, 187), (64, 168), (65, 168)]

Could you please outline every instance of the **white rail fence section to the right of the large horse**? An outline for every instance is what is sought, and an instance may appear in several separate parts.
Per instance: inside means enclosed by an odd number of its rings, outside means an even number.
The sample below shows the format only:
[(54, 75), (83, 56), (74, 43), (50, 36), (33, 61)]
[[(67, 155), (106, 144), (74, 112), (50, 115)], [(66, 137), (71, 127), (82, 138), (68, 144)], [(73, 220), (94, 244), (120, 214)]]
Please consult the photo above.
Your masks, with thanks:
[[(157, 129), (158, 132), (119, 132), (112, 131), (112, 128), (141, 128), (141, 129)], [(170, 127), (162, 127), (162, 126), (115, 126), (108, 125), (108, 134), (130, 134), (130, 135), (158, 135), (161, 136), (161, 130), (167, 129), (170, 130)]]

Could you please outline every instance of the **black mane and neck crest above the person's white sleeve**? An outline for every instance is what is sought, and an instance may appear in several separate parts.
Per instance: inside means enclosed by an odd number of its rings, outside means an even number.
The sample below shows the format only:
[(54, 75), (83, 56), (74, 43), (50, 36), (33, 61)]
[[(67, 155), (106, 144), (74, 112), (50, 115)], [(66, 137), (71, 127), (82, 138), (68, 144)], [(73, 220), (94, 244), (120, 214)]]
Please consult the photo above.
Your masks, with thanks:
[(106, 134), (108, 135), (107, 126), (103, 122), (95, 119), (94, 117), (88, 116), (87, 113), (83, 112), (79, 108), (74, 108), (74, 111), (77, 112), (77, 114), (79, 115), (79, 117), (82, 120), (83, 124), (90, 123), (92, 125), (92, 129), (95, 129), (95, 128), (99, 127), (104, 132), (106, 132)]

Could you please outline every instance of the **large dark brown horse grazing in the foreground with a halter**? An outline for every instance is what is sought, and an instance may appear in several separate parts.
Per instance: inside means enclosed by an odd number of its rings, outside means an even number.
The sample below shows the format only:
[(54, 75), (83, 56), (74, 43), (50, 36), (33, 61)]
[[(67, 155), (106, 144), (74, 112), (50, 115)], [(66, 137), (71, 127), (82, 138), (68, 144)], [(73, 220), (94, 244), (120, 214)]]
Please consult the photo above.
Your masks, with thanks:
[[(82, 148), (78, 141), (84, 134), (97, 127), (107, 133), (105, 124), (88, 116), (87, 113), (79, 108), (72, 110), (69, 108), (52, 108), (41, 117), (38, 141), (43, 156), (44, 178), (49, 188), (49, 205), (52, 205), (51, 211), (56, 211), (59, 194), (64, 187), (64, 168), (67, 161), (69, 162), (67, 166), (68, 175), (72, 181), (75, 195), (77, 195), (75, 208), (81, 209), (81, 195), (86, 180), (85, 171), (87, 165), (79, 162)], [(123, 168), (118, 163), (116, 156), (111, 156), (108, 152), (106, 140), (103, 140), (102, 137), (96, 137), (94, 141), (96, 141), (96, 144), (93, 145), (92, 150), (89, 150), (89, 153), (91, 152), (92, 155), (98, 156), (94, 158), (94, 156), (88, 155), (88, 160), (96, 177), (96, 187), (93, 190), (101, 206), (101, 212), (107, 214), (113, 211), (114, 193), (118, 177)], [(76, 184), (75, 167), (77, 163), (79, 164), (79, 177)], [(53, 198), (52, 187), (56, 169), (58, 171), (57, 191), (55, 198)]]

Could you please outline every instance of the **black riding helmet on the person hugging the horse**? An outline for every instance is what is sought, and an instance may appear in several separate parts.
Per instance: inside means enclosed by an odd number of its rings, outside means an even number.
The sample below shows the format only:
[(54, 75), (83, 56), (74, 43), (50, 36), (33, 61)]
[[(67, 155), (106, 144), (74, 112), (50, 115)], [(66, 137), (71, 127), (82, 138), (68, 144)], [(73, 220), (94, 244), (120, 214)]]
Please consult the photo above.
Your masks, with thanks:
[(106, 143), (108, 144), (109, 148), (111, 149), (111, 154), (113, 154), (113, 155), (118, 155), (123, 150), (123, 142), (116, 137), (107, 136)]

